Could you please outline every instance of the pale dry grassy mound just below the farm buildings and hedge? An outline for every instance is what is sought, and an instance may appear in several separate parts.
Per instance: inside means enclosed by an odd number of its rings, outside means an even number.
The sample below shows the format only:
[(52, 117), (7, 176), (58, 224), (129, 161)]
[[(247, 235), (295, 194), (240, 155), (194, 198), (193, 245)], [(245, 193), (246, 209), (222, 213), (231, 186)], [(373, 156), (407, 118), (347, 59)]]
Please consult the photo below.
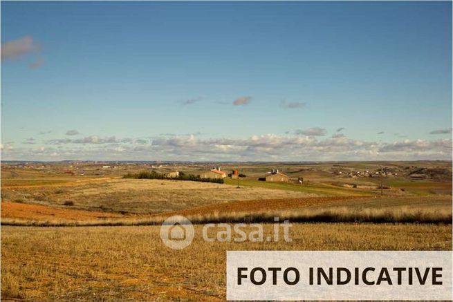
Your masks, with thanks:
[(16, 184), (2, 187), (3, 200), (73, 209), (156, 214), (234, 200), (299, 198), (316, 196), (301, 191), (241, 187), (209, 182), (178, 180), (134, 180), (104, 178), (66, 182), (65, 185), (33, 186)]

